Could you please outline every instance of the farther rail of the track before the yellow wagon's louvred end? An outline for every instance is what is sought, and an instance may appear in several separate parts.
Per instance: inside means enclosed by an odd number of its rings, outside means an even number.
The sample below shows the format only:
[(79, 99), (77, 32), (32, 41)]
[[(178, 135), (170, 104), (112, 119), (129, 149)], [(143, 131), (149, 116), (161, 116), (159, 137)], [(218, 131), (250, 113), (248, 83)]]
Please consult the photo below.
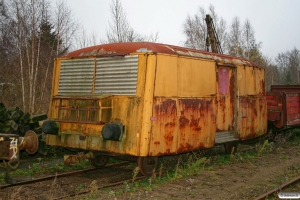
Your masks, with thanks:
[(101, 168), (89, 168), (89, 169), (77, 170), (77, 171), (67, 172), (67, 173), (63, 173), (63, 174), (56, 174), (56, 175), (51, 175), (51, 176), (45, 176), (45, 177), (42, 177), (42, 178), (36, 178), (36, 179), (29, 180), (29, 181), (21, 181), (21, 182), (17, 182), (17, 183), (13, 183), (13, 184), (1, 185), (0, 189), (13, 187), (13, 186), (18, 186), (18, 185), (25, 185), (25, 184), (30, 184), (30, 183), (40, 182), (40, 181), (45, 181), (45, 180), (49, 180), (49, 179), (57, 178), (57, 177), (65, 177), (65, 176), (70, 176), (70, 175), (82, 174), (82, 173), (86, 173), (86, 172), (90, 172), (90, 171), (96, 171), (96, 170), (104, 169), (104, 168), (108, 168), (108, 167), (119, 166), (119, 165), (123, 165), (123, 164), (126, 164), (126, 163), (129, 163), (129, 161), (119, 162), (119, 163), (115, 163), (115, 164), (109, 164), (109, 165), (106, 165), (106, 166), (101, 167)]

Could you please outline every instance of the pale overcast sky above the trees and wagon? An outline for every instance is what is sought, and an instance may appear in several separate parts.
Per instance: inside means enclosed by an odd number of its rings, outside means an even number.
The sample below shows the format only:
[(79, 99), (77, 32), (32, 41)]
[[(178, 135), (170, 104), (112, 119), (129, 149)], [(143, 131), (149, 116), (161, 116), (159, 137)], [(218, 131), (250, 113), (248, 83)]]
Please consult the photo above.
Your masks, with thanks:
[[(105, 38), (110, 0), (67, 0), (74, 17), (87, 33)], [(121, 0), (131, 27), (140, 34), (159, 33), (160, 43), (182, 46), (183, 23), (198, 8), (215, 7), (227, 25), (237, 16), (248, 18), (264, 55), (274, 58), (279, 52), (300, 49), (300, 0)]]

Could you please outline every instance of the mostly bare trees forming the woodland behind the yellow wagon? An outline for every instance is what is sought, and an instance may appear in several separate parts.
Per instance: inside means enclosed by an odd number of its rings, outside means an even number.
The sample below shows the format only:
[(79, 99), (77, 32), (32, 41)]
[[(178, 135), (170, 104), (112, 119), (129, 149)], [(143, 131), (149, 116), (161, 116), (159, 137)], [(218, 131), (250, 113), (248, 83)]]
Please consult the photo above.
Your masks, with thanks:
[[(270, 58), (261, 52), (262, 41), (246, 19), (225, 21), (213, 5), (182, 19), (183, 46), (205, 50), (205, 16), (213, 18), (223, 53), (249, 59), (265, 68), (266, 88), (275, 84), (300, 83), (300, 53), (297, 47)], [(114, 42), (159, 42), (159, 32), (143, 35), (128, 21), (120, 0), (111, 0), (106, 36), (87, 33), (66, 1), (0, 0), (0, 102), (19, 106), (31, 114), (49, 107), (54, 59), (88, 46)]]

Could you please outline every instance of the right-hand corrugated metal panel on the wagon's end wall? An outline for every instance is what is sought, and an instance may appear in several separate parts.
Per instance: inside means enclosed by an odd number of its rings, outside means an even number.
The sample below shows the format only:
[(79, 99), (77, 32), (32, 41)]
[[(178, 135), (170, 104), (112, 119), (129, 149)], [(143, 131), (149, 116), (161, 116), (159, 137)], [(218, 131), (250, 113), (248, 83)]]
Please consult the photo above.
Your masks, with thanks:
[(138, 56), (98, 58), (95, 94), (135, 95)]

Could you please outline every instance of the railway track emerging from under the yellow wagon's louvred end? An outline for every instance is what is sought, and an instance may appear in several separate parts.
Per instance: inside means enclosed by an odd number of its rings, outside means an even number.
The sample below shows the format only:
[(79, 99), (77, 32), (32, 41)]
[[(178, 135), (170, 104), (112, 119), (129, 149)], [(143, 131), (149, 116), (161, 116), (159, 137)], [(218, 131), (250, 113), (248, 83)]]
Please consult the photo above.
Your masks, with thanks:
[[(29, 181), (0, 186), (3, 199), (64, 199), (89, 193), (90, 190), (120, 185), (132, 181), (132, 172), (136, 166), (129, 161), (110, 164), (102, 168), (90, 168), (74, 172), (57, 174)], [(145, 176), (137, 175), (134, 180)], [(91, 188), (90, 184), (96, 182)], [(97, 189), (95, 189), (97, 188)]]

